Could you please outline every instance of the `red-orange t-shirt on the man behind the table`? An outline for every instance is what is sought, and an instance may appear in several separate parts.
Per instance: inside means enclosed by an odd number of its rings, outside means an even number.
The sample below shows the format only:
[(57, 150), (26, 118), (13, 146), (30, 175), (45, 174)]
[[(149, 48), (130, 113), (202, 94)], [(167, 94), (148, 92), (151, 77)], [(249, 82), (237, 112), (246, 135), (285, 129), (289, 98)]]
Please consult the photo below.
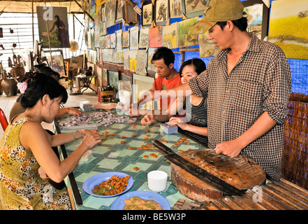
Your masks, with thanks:
[[(166, 89), (176, 87), (177, 85), (182, 85), (181, 76), (179, 76), (179, 74), (175, 76), (175, 78), (173, 79), (161, 78), (160, 76), (158, 76), (154, 80), (153, 87), (154, 87), (154, 90), (166, 90)], [(175, 98), (172, 99), (172, 101), (174, 100)], [(163, 100), (161, 99), (161, 109), (164, 109), (164, 110), (168, 109), (170, 102), (171, 102), (170, 97), (168, 97), (167, 105), (164, 105)]]

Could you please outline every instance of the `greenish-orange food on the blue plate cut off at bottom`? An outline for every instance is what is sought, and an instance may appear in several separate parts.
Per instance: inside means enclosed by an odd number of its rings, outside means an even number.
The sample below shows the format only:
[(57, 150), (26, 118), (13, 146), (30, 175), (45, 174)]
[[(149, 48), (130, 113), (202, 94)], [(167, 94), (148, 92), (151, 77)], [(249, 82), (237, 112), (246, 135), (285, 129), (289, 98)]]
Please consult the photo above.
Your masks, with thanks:
[(163, 210), (154, 200), (145, 200), (140, 197), (131, 197), (124, 200), (124, 210)]

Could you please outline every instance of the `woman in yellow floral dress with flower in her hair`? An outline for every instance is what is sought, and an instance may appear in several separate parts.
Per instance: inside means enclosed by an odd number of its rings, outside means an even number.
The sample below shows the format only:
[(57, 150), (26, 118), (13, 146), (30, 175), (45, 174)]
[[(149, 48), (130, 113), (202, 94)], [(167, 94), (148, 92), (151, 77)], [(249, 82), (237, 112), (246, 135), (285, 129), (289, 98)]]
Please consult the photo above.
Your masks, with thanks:
[[(101, 142), (96, 130), (50, 135), (41, 126), (52, 123), (68, 97), (57, 80), (44, 73), (27, 73), (18, 85), (26, 111), (15, 116), (0, 141), (0, 209), (71, 209), (66, 188), (58, 190), (42, 179), (41, 167), (57, 183), (73, 172), (82, 155)], [(63, 161), (52, 146), (83, 138)]]

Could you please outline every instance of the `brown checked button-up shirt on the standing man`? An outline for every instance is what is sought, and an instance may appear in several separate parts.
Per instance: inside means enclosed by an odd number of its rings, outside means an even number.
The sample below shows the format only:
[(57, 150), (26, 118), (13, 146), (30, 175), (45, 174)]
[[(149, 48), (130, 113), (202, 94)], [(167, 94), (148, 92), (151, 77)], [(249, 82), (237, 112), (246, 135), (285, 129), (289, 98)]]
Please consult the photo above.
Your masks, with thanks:
[(189, 80), (198, 96), (208, 91), (209, 148), (236, 139), (267, 111), (277, 125), (243, 148), (241, 154), (258, 162), (267, 178), (279, 180), (284, 119), (291, 92), (290, 66), (281, 48), (251, 34), (247, 51), (228, 75), (229, 50), (222, 50), (203, 73)]

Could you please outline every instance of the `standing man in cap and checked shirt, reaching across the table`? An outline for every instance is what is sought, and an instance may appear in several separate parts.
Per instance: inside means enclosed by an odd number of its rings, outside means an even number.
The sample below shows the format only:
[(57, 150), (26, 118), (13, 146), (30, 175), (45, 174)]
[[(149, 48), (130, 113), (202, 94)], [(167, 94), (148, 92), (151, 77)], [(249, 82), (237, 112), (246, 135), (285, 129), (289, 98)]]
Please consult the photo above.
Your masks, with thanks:
[[(281, 48), (246, 31), (243, 9), (240, 0), (207, 4), (191, 29), (196, 34), (208, 31), (221, 52), (203, 73), (168, 94), (191, 90), (200, 97), (208, 92), (209, 148), (231, 158), (246, 155), (263, 167), (268, 179), (278, 181), (291, 69)], [(147, 95), (155, 97), (155, 92)]]

